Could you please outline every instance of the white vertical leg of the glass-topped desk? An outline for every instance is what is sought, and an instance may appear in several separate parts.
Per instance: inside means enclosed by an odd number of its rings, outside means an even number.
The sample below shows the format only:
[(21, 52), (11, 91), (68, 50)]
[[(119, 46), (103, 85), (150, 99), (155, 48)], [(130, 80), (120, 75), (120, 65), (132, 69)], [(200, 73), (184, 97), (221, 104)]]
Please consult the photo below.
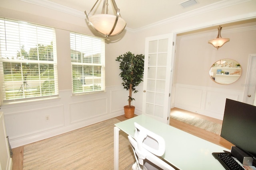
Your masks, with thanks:
[(118, 127), (114, 127), (114, 170), (118, 170), (119, 161), (119, 131)]

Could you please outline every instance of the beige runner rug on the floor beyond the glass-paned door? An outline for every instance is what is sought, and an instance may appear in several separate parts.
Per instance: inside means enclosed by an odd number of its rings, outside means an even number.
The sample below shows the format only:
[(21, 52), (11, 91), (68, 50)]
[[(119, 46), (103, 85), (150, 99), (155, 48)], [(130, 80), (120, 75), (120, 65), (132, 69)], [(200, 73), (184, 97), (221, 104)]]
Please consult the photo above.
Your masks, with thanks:
[(199, 127), (201, 129), (204, 129), (206, 131), (210, 131), (212, 133), (216, 133), (220, 135), (222, 125), (219, 123), (215, 123), (212, 121), (208, 121), (199, 117), (195, 117), (193, 115), (188, 115), (182, 112), (174, 112), (171, 113), (170, 117), (172, 119), (176, 119), (178, 121), (182, 121), (184, 123), (187, 123), (189, 125), (193, 125), (196, 127)]

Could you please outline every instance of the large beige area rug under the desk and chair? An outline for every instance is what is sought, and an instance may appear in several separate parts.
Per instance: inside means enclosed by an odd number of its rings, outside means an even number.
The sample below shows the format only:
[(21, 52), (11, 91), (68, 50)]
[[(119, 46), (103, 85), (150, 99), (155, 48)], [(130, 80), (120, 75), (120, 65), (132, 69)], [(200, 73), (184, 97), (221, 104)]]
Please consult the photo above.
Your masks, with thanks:
[[(24, 147), (23, 170), (113, 170), (114, 124), (108, 119)], [(126, 133), (119, 131), (119, 169), (135, 162)]]

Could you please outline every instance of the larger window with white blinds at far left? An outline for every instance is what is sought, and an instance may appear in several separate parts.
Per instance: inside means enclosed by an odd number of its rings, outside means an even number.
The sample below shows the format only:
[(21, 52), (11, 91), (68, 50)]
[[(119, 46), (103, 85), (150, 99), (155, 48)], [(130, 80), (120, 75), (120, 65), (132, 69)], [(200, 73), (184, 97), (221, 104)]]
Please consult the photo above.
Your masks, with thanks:
[(55, 29), (0, 18), (3, 100), (58, 94)]

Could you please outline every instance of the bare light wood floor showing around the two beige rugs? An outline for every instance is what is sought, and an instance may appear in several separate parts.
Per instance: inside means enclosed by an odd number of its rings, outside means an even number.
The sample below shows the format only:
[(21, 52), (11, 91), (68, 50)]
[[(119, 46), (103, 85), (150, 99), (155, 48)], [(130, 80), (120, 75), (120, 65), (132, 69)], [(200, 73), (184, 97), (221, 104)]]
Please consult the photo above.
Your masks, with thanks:
[[(200, 118), (203, 118), (203, 119), (207, 119), (209, 121), (213, 121), (213, 122), (222, 124), (222, 121), (219, 120), (219, 119), (214, 119), (212, 117), (207, 117), (207, 116), (204, 116), (204, 115), (192, 113), (192, 112), (185, 111), (185, 110), (178, 109), (178, 108), (172, 108), (171, 109), (171, 114), (174, 111), (181, 111), (183, 113), (187, 113), (187, 114), (190, 114), (190, 115), (194, 115), (196, 117), (200, 117)], [(127, 119), (126, 117), (124, 117), (124, 115), (118, 116), (116, 118), (118, 120), (120, 120), (120, 121), (124, 121), (124, 120)], [(188, 125), (186, 123), (183, 123), (181, 121), (177, 121), (175, 119), (170, 119), (170, 125), (173, 126), (173, 127), (178, 128), (178, 129), (181, 129), (182, 131), (186, 131), (186, 132), (188, 132), (188, 133), (190, 133), (192, 135), (195, 135), (197, 137), (200, 137), (202, 139), (205, 139), (207, 141), (210, 141), (212, 143), (215, 143), (217, 145), (225, 147), (227, 149), (231, 149), (232, 143), (226, 141), (225, 139), (220, 137), (220, 135), (217, 135), (215, 133), (211, 133), (211, 132), (208, 132), (208, 131), (206, 131), (204, 129), (200, 129), (200, 128), (194, 127), (192, 125)], [(12, 169), (13, 170), (22, 170), (23, 169), (24, 146), (13, 148), (12, 152), (13, 152), (13, 157), (12, 157), (13, 165), (12, 165)]]

